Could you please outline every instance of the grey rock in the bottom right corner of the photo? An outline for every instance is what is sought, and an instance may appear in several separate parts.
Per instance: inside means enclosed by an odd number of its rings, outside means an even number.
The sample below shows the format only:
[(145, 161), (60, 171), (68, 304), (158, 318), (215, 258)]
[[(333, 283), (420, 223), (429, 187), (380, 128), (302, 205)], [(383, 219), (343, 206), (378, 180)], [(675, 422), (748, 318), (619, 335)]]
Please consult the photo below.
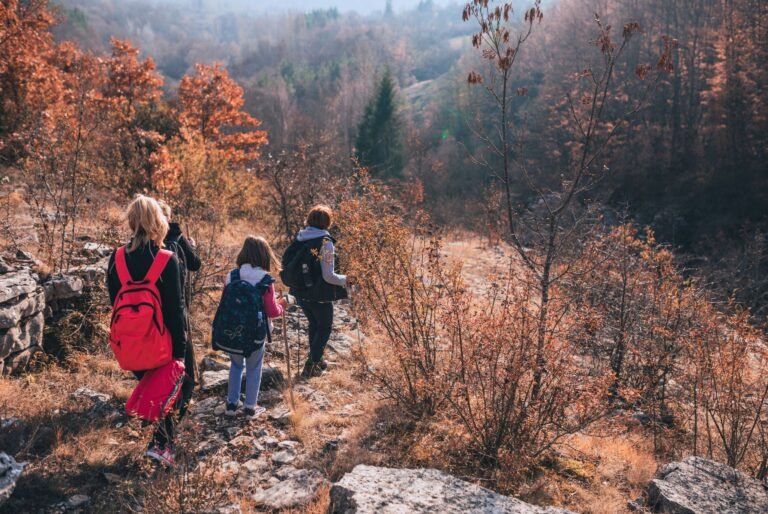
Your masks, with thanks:
[(648, 487), (648, 506), (669, 514), (768, 512), (768, 491), (725, 464), (689, 457), (664, 466)]

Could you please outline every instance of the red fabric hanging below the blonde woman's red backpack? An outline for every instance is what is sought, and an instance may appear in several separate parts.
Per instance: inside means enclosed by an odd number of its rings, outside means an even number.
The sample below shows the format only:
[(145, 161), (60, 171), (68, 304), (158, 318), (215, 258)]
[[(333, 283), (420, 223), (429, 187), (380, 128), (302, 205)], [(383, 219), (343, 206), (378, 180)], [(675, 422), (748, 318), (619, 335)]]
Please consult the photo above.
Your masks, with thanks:
[(150, 423), (164, 418), (181, 394), (184, 363), (172, 360), (144, 373), (125, 404), (125, 412)]

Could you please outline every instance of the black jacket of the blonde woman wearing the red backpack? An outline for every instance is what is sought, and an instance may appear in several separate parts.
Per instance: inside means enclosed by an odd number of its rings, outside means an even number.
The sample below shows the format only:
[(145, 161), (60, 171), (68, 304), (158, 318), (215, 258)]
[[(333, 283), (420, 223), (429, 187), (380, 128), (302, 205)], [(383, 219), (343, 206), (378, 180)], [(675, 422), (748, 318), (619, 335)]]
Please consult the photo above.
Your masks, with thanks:
[[(141, 280), (149, 271), (149, 267), (155, 260), (158, 248), (154, 243), (142, 246), (141, 248), (125, 253), (125, 261), (128, 265), (128, 271), (131, 278)], [(107, 288), (109, 289), (109, 299), (112, 304), (120, 292), (120, 278), (117, 275), (115, 267), (115, 254), (109, 258), (107, 268)], [(174, 255), (165, 266), (160, 280), (157, 281), (157, 290), (160, 293), (160, 301), (163, 307), (163, 321), (168, 331), (171, 333), (173, 342), (173, 358), (183, 359), (186, 354), (186, 331), (184, 315), (184, 297), (181, 287), (181, 272), (179, 259)]]

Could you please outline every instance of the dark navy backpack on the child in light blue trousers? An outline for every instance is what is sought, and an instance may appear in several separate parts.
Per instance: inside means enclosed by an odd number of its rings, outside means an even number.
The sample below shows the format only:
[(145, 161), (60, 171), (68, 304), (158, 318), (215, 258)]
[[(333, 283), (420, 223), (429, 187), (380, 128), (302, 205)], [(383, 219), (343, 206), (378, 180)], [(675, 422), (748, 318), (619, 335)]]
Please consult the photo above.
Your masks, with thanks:
[(274, 281), (266, 275), (254, 286), (240, 278), (239, 269), (232, 271), (213, 318), (214, 350), (248, 358), (264, 346), (265, 340), (272, 342), (264, 293)]

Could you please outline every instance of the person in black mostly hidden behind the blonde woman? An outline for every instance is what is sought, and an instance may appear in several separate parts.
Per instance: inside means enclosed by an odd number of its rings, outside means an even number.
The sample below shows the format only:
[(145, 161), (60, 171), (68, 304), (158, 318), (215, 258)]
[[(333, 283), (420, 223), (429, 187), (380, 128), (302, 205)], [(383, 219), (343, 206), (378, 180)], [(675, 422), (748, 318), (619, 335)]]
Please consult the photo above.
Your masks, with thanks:
[(181, 225), (171, 221), (173, 219), (171, 207), (163, 201), (159, 203), (163, 209), (163, 214), (165, 214), (168, 220), (168, 235), (165, 236), (165, 248), (176, 254), (176, 257), (179, 259), (181, 290), (184, 296), (184, 328), (187, 333), (188, 349), (184, 359), (185, 380), (181, 388), (181, 397), (179, 398), (179, 419), (181, 419), (187, 413), (189, 402), (192, 399), (192, 392), (195, 390), (195, 370), (197, 369), (195, 347), (192, 344), (189, 323), (189, 309), (192, 302), (189, 272), (199, 271), (202, 262), (195, 249), (194, 240), (190, 241), (184, 237), (184, 234), (181, 232)]

